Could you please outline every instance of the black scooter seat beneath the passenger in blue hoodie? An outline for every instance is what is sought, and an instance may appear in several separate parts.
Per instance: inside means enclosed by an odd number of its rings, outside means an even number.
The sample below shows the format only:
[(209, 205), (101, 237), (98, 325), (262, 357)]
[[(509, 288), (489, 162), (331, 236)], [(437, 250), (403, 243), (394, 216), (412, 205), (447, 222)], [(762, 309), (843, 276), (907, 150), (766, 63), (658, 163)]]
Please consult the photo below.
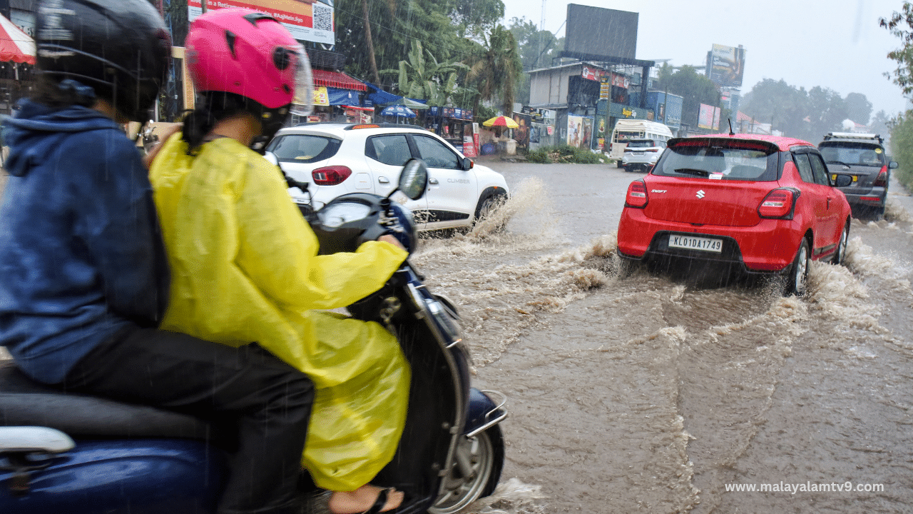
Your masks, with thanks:
[(207, 439), (204, 420), (148, 405), (58, 391), (0, 360), (0, 426), (47, 426), (74, 438)]

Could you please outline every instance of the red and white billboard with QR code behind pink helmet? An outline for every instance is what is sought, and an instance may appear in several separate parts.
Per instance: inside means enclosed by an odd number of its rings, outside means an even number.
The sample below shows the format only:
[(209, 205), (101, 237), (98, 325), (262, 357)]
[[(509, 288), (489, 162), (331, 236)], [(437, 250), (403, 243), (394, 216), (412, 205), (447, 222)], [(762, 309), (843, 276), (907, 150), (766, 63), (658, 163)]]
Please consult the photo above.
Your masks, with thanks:
[[(203, 0), (187, 0), (187, 19), (203, 12)], [(333, 8), (314, 0), (205, 0), (206, 9), (246, 7), (273, 16), (292, 37), (327, 45), (336, 44)]]

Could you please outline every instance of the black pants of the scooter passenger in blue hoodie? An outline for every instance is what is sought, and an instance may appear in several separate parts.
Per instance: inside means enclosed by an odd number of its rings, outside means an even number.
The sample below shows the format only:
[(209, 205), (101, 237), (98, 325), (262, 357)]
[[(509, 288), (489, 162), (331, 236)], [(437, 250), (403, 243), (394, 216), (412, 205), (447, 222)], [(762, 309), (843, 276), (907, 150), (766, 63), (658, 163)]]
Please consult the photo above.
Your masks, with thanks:
[(220, 514), (296, 510), (310, 379), (256, 344), (241, 348), (131, 328), (80, 359), (61, 384), (123, 402), (187, 412), (236, 430)]

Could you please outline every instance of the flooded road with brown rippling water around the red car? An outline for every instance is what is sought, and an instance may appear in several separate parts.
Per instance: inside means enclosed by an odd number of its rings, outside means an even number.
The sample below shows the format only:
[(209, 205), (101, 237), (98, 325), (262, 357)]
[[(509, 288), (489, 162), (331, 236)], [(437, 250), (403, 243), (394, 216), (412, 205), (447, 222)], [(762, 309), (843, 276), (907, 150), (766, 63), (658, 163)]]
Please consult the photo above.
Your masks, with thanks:
[(491, 167), (514, 195), (508, 230), (426, 240), (414, 258), (460, 306), (477, 385), (509, 396), (502, 487), (470, 511), (913, 504), (913, 201), (897, 184), (887, 220), (854, 220), (846, 266), (813, 262), (796, 299), (619, 277), (639, 174)]

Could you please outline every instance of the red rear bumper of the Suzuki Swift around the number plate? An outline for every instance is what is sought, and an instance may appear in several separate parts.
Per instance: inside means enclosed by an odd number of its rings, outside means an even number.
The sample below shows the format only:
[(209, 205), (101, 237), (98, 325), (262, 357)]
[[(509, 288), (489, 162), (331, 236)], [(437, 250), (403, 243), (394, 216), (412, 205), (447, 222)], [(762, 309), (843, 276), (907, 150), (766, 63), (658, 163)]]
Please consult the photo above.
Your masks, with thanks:
[[(684, 250), (668, 245), (669, 235), (687, 234), (722, 240), (721, 252)], [(618, 252), (628, 259), (678, 258), (738, 263), (746, 273), (789, 268), (803, 234), (789, 220), (761, 220), (752, 227), (723, 227), (651, 220), (642, 209), (625, 208), (618, 225)]]

